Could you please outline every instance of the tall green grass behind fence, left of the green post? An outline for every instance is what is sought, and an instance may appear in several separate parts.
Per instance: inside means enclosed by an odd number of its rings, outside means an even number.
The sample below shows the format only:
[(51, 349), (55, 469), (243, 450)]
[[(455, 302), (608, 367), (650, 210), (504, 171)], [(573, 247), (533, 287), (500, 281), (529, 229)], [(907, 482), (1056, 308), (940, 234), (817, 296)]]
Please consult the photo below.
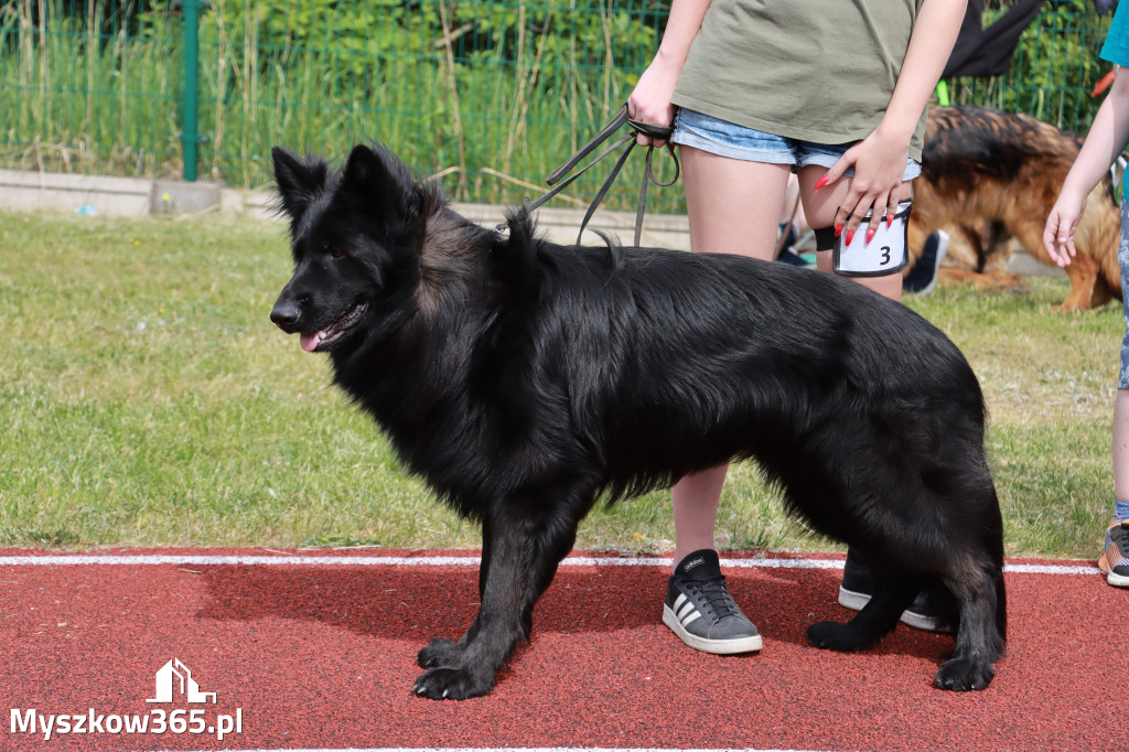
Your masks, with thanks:
[[(175, 21), (160, 14), (131, 24), (111, 17), (107, 2), (0, 5), (0, 166), (113, 175), (175, 169)], [(77, 12), (84, 7), (87, 15)], [(132, 36), (131, 25), (147, 36)]]

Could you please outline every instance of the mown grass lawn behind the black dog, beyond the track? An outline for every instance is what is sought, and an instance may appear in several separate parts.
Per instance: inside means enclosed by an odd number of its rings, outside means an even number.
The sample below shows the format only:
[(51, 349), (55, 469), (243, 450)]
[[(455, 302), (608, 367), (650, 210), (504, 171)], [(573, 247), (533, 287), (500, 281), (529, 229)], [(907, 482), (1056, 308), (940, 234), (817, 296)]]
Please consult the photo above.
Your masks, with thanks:
[[(281, 225), (0, 217), (0, 545), (475, 546), (266, 318)], [(1118, 306), (1060, 316), (1066, 282), (909, 300), (983, 383), (1010, 556), (1091, 558), (1112, 506)], [(730, 549), (832, 549), (755, 467), (718, 515)], [(668, 552), (667, 493), (584, 524), (586, 550)]]

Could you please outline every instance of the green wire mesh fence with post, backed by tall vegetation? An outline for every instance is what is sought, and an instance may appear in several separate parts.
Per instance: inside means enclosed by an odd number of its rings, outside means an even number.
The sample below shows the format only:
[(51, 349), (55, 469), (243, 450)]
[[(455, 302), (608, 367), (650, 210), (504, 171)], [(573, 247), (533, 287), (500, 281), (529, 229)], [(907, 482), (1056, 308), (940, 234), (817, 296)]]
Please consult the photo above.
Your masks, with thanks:
[[(986, 5), (990, 21), (1007, 2)], [(667, 9), (668, 0), (5, 0), (0, 166), (259, 187), (270, 183), (271, 146), (342, 156), (379, 139), (420, 175), (441, 174), (457, 199), (517, 202), (625, 99)], [(1096, 61), (1108, 26), (1084, 2), (1049, 2), (1013, 70), (952, 81), (953, 99), (1085, 130), (1097, 104), (1089, 90), (1108, 70)], [(657, 210), (679, 209), (677, 191), (657, 193)]]

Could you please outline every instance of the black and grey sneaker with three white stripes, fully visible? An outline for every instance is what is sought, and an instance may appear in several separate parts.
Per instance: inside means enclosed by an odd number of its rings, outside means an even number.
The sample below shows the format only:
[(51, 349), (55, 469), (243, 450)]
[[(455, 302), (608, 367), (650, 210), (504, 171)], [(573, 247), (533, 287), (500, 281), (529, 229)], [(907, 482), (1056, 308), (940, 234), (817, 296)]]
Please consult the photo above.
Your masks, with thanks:
[(761, 649), (761, 636), (725, 587), (717, 551), (694, 551), (679, 562), (666, 586), (663, 623), (704, 653), (728, 655)]

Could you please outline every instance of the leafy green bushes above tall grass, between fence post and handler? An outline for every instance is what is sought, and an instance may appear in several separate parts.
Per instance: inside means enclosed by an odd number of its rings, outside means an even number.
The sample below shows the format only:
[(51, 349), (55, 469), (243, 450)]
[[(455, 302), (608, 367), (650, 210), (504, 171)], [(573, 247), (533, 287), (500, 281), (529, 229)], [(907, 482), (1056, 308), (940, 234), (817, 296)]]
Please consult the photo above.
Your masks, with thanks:
[[(217, 45), (225, 35), (254, 40), (263, 49), (257, 55), (262, 69), (312, 55), (335, 75), (351, 76), (362, 88), (393, 82), (403, 71), (388, 65), (393, 60), (443, 68), (448, 47), (456, 78), (473, 82), (480, 65), (535, 62), (541, 69), (579, 67), (598, 75), (615, 56), (612, 67), (622, 77), (625, 67), (641, 69), (657, 45), (646, 16), (603, 6), (578, 11), (553, 2), (217, 0), (212, 15), (215, 23), (203, 27), (205, 40)], [(609, 45), (615, 47), (615, 55), (607, 53)], [(647, 55), (638, 54), (641, 49)], [(619, 55), (621, 50), (629, 54)]]

